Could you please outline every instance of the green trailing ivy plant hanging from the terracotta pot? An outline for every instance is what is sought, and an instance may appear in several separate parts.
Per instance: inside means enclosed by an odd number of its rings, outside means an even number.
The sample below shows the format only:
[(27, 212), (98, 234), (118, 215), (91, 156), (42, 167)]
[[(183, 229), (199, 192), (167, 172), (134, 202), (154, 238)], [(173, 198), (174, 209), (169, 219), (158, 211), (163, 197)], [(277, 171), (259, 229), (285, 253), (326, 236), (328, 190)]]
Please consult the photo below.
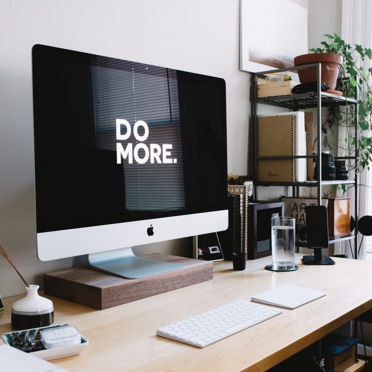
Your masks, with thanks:
[[(361, 62), (365, 59), (372, 60), (372, 49), (360, 45), (352, 47), (341, 39), (339, 35), (325, 34), (325, 41), (322, 41), (320, 48), (312, 48), (314, 53), (334, 53), (343, 57), (340, 67), (339, 82), (337, 90), (341, 91), (347, 98), (358, 100), (358, 124), (359, 131), (355, 133), (355, 106), (348, 104), (345, 106), (331, 107), (325, 122), (322, 123), (323, 148), (332, 151), (333, 146), (341, 147), (346, 156), (357, 156), (354, 164), (349, 163), (349, 168), (360, 173), (365, 168), (370, 169), (372, 162), (372, 87), (371, 73), (372, 67), (364, 70)], [(356, 95), (357, 93), (357, 95)], [(331, 138), (334, 133), (334, 126), (344, 126), (346, 136), (340, 143), (333, 143)], [(358, 154), (356, 154), (356, 139), (358, 140)]]

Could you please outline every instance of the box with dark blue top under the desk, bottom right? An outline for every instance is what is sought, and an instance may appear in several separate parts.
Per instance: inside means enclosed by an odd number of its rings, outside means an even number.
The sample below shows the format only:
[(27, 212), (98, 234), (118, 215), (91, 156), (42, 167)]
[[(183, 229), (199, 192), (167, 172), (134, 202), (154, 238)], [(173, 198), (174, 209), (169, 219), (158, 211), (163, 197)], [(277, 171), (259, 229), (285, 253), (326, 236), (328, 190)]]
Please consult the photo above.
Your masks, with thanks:
[(355, 363), (359, 340), (331, 334), (323, 340), (322, 354), (326, 371), (344, 371)]

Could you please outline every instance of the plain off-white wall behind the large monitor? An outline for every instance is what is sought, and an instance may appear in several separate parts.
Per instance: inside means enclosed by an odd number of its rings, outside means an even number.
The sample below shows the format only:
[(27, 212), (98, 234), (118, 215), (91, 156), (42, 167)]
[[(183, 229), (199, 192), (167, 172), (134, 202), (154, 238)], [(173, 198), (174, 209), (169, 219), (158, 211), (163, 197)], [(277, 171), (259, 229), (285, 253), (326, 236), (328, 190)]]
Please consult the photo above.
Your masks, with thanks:
[[(254, 9), (252, 16), (257, 16)], [(318, 26), (316, 19), (313, 26)], [(34, 44), (224, 78), (228, 170), (246, 174), (249, 74), (239, 71), (239, 0), (0, 0), (0, 30), (0, 244), (29, 282), (42, 285), (45, 272), (80, 263), (79, 259), (46, 263), (36, 257)], [(152, 248), (180, 254), (186, 249), (184, 240)], [(0, 293), (4, 297), (24, 293), (23, 283), (2, 257)]]

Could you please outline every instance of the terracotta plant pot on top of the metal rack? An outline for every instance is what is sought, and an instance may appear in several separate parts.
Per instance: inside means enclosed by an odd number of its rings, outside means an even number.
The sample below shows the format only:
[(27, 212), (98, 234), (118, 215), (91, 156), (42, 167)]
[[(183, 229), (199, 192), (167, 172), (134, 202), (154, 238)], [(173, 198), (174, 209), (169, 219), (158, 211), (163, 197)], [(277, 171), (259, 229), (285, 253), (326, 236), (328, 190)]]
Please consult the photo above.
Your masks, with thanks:
[[(321, 63), (322, 83), (327, 84), (330, 91), (334, 91), (342, 65), (342, 56), (333, 53), (309, 53), (294, 57), (295, 66), (310, 63)], [(301, 83), (317, 81), (316, 67), (298, 70), (297, 72)]]

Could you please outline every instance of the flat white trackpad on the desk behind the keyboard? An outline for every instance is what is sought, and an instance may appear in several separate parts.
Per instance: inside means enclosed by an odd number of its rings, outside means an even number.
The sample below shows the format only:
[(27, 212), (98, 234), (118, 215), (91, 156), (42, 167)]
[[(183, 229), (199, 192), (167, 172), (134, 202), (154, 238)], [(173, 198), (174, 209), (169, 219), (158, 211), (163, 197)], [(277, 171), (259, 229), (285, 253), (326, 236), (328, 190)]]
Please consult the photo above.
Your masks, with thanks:
[(281, 308), (295, 309), (323, 296), (325, 296), (325, 292), (322, 291), (293, 284), (284, 284), (278, 288), (253, 295), (252, 301)]

